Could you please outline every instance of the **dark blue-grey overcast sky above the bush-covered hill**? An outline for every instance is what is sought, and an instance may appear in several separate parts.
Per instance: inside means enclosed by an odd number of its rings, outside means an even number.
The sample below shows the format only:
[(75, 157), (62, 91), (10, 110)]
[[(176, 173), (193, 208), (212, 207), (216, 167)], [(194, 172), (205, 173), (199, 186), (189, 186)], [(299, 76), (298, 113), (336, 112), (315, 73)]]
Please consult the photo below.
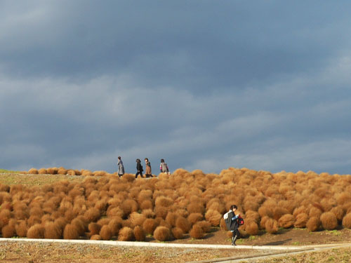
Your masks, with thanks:
[(0, 168), (350, 174), (350, 10), (0, 0)]

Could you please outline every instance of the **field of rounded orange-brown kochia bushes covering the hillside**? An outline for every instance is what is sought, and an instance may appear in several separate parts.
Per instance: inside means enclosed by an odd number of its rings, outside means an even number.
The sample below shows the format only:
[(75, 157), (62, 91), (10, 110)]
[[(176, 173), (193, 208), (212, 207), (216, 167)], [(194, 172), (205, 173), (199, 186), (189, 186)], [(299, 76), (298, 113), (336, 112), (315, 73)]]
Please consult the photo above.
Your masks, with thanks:
[(27, 187), (0, 184), (2, 237), (159, 241), (203, 238), (225, 229), (222, 215), (236, 204), (243, 236), (279, 228), (351, 228), (351, 175), (272, 174), (229, 168), (220, 175), (178, 169), (148, 180), (102, 171), (31, 169), (28, 173), (85, 176)]

